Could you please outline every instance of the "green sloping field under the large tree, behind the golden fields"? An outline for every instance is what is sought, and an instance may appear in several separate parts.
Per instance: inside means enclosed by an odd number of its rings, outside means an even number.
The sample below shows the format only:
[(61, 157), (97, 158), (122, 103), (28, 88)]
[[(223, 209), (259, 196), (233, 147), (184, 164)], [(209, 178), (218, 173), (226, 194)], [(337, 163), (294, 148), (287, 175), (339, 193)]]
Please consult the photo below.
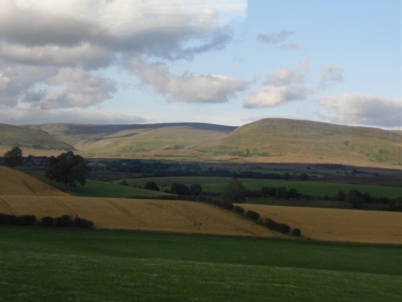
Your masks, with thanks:
[[(26, 172), (27, 174), (54, 186), (60, 190), (63, 189), (61, 182), (55, 182), (47, 179), (44, 174), (38, 172)], [(77, 184), (75, 188), (67, 187), (67, 193), (75, 194), (83, 197), (111, 197), (111, 198), (126, 198), (130, 196), (155, 196), (159, 192), (134, 188), (130, 186), (123, 186), (121, 184), (111, 184), (110, 182), (98, 182), (95, 180), (86, 180), (86, 184), (81, 186)], [(168, 193), (163, 193), (168, 195)]]

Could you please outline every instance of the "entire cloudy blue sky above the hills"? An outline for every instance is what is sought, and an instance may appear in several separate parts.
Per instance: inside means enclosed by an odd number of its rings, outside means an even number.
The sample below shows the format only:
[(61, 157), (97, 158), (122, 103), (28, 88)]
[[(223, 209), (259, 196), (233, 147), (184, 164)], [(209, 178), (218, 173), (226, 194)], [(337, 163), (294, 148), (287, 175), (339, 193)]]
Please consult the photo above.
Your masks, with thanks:
[(2, 0), (0, 123), (401, 129), (400, 0)]

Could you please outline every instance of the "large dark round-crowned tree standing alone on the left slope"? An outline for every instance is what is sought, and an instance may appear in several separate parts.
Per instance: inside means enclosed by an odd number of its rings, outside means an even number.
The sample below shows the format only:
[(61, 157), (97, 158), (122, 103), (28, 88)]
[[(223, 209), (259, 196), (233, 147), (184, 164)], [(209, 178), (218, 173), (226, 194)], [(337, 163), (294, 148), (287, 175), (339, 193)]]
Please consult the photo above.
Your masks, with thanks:
[(50, 180), (62, 182), (64, 184), (64, 192), (67, 185), (75, 187), (77, 182), (82, 186), (86, 184), (85, 176), (89, 176), (91, 167), (85, 164), (84, 158), (80, 155), (74, 155), (72, 151), (62, 153), (57, 157), (51, 156), (47, 160), (47, 168), (45, 176)]

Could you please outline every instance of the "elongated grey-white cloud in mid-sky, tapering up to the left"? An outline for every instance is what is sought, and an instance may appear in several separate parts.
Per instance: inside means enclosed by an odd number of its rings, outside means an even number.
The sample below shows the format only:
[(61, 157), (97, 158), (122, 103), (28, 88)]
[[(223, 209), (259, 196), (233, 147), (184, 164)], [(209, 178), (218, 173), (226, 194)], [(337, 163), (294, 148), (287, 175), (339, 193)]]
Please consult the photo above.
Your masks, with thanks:
[(246, 82), (220, 74), (171, 74), (166, 64), (134, 58), (127, 63), (131, 74), (143, 85), (169, 95), (167, 101), (187, 103), (224, 103), (236, 92), (246, 88)]

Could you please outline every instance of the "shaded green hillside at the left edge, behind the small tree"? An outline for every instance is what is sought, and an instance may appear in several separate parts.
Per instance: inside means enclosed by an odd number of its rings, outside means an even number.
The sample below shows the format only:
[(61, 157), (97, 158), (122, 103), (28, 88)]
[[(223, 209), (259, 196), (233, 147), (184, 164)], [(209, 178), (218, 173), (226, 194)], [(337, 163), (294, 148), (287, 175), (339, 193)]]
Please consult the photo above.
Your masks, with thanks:
[[(0, 124), (1, 149), (11, 149), (14, 146), (18, 146), (21, 149), (28, 148), (41, 151), (76, 151), (76, 149), (68, 143), (49, 135), (45, 131), (21, 126)], [(24, 155), (27, 156), (28, 154), (25, 153), (26, 152), (24, 152)]]

